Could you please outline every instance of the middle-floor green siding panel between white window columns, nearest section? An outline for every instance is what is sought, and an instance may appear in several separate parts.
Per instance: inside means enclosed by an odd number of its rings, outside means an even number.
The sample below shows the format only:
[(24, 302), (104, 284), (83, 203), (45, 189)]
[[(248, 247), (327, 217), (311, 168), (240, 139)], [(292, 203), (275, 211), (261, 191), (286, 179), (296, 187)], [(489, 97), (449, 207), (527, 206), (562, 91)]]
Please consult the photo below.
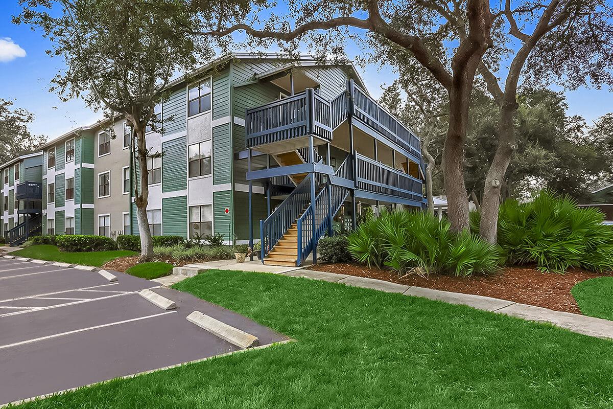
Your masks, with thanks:
[(187, 179), (186, 136), (162, 143), (162, 192), (186, 189)]

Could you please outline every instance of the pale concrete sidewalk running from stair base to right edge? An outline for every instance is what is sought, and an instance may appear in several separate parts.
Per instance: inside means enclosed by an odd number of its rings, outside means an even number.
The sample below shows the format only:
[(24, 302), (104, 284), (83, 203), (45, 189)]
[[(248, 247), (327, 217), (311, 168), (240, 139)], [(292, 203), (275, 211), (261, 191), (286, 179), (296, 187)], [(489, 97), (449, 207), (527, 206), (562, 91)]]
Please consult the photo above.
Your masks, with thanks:
[(608, 319), (554, 311), (508, 300), (475, 296), (473, 294), (462, 294), (460, 292), (412, 287), (390, 283), (389, 281), (375, 280), (373, 278), (355, 277), (352, 275), (322, 271), (294, 270), (281, 273), (281, 275), (305, 277), (313, 280), (328, 281), (330, 283), (342, 283), (349, 286), (376, 289), (384, 292), (396, 292), (406, 296), (424, 297), (431, 300), (448, 302), (450, 304), (463, 304), (477, 308), (478, 310), (510, 315), (530, 321), (537, 321), (539, 323), (554, 324), (555, 326), (577, 332), (578, 334), (590, 335), (590, 337), (613, 338), (613, 321), (609, 321)]

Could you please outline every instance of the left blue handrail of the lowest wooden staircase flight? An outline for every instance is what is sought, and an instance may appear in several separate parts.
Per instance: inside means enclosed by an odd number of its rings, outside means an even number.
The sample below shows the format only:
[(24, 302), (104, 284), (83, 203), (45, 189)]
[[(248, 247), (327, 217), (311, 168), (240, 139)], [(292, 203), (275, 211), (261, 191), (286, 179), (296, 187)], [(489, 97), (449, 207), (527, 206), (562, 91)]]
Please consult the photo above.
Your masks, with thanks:
[(311, 202), (311, 174), (270, 213), (266, 220), (260, 220), (261, 261), (264, 262), (268, 251), (275, 247), (287, 229), (295, 223), (300, 214)]

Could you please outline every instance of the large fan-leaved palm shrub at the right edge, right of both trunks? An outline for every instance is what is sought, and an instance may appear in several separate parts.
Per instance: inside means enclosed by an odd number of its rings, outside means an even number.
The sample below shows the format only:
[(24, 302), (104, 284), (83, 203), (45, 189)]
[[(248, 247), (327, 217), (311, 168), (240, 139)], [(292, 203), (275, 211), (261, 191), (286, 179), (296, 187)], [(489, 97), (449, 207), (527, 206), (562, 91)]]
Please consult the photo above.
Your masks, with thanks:
[(613, 269), (613, 229), (593, 208), (541, 191), (533, 201), (509, 199), (500, 207), (498, 243), (511, 264), (536, 264), (543, 272), (569, 267)]

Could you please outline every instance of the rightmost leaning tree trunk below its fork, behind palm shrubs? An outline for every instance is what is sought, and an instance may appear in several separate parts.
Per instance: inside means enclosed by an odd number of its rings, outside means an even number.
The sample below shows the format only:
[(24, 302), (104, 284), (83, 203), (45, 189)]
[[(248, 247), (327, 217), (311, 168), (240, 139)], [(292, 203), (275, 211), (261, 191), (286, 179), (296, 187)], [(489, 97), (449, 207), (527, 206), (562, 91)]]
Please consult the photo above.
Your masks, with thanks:
[(498, 147), (492, 160), (492, 165), (485, 177), (483, 188), (483, 202), (481, 205), (481, 224), (479, 234), (489, 243), (496, 243), (498, 234), (498, 208), (500, 207), (500, 193), (504, 182), (515, 143), (513, 118), (517, 110), (517, 102), (506, 103), (500, 110), (500, 136)]

